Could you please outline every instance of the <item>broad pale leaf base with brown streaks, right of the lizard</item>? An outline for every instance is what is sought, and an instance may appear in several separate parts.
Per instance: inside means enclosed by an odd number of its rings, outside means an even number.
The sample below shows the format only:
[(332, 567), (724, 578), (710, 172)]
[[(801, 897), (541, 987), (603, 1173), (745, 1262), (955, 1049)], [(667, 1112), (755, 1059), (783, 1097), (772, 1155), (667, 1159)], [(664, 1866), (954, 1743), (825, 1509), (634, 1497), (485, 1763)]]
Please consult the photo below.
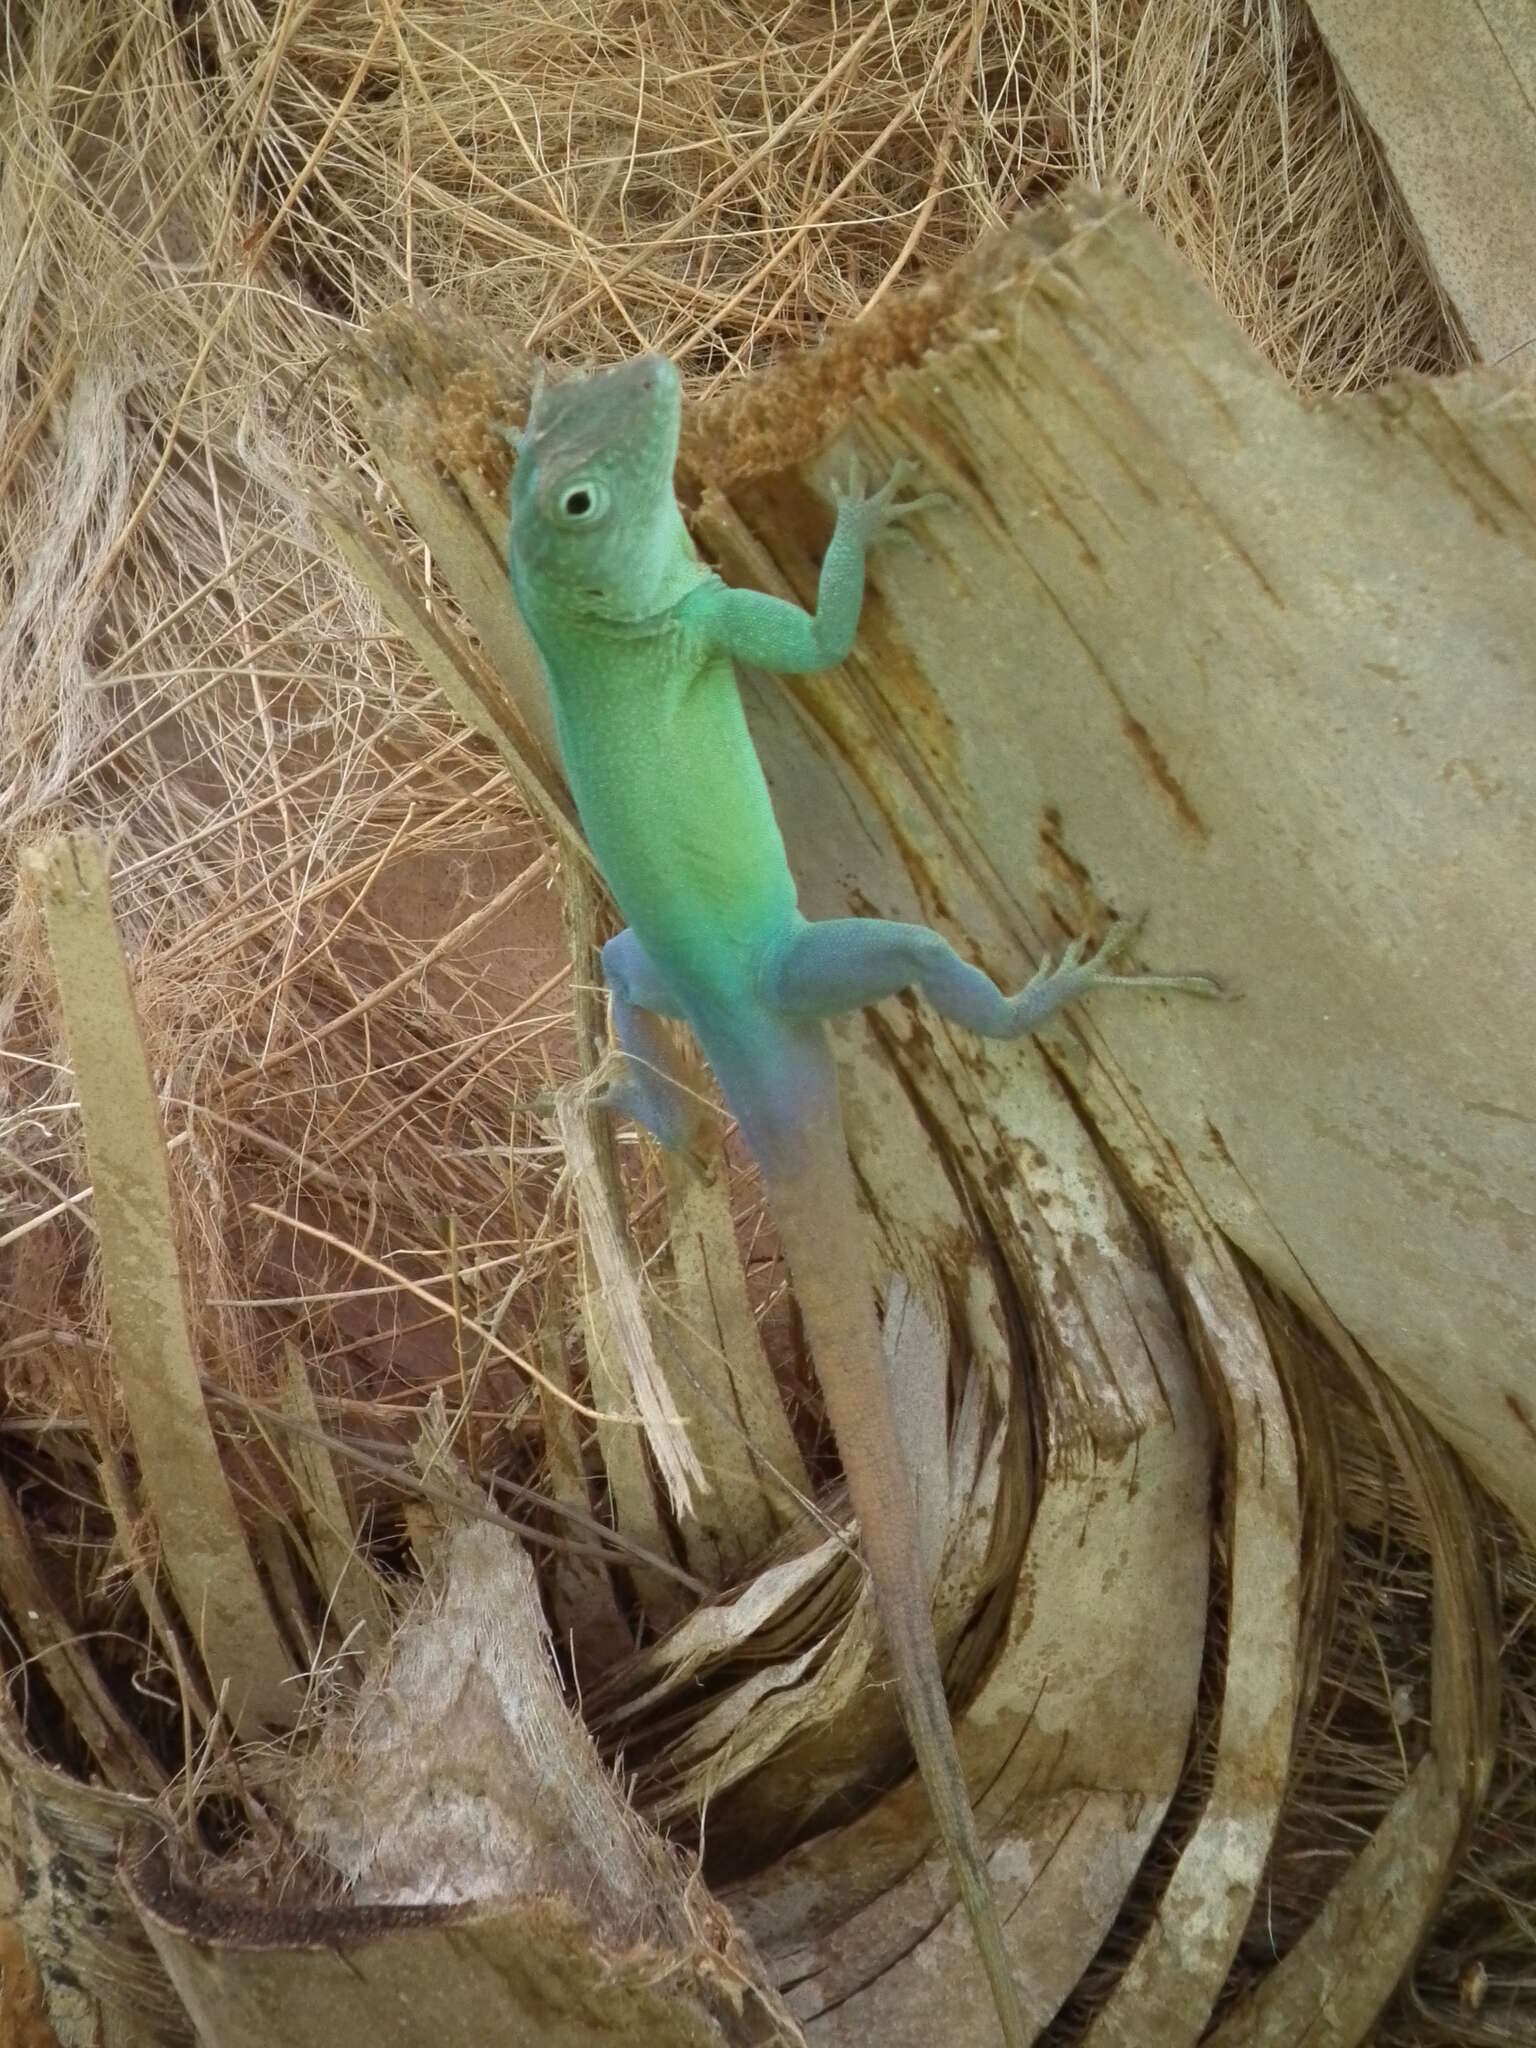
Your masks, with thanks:
[[(1044, 891), (1067, 928), (1151, 907), (1149, 963), (1241, 989), (1059, 1036), (1536, 1528), (1536, 403), (1475, 371), (1303, 406), (1098, 201), (1008, 236), (938, 340), (854, 416), (956, 500), (874, 557), (858, 778), (1001, 979)], [(809, 598), (805, 502), (737, 510)], [(795, 690), (840, 745), (838, 684)], [(770, 774), (803, 897), (885, 911), (803, 754)], [(1106, 1067), (1075, 1085), (1112, 1116)]]

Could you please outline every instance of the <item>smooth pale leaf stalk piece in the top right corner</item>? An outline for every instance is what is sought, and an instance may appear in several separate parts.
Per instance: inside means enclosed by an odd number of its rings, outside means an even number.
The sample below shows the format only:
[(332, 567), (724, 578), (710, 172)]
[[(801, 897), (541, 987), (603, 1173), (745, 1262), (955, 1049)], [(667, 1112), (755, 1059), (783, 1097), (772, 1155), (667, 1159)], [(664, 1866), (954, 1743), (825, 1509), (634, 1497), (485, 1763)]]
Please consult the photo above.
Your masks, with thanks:
[(1311, 0), (1311, 10), (1479, 354), (1530, 375), (1536, 0)]

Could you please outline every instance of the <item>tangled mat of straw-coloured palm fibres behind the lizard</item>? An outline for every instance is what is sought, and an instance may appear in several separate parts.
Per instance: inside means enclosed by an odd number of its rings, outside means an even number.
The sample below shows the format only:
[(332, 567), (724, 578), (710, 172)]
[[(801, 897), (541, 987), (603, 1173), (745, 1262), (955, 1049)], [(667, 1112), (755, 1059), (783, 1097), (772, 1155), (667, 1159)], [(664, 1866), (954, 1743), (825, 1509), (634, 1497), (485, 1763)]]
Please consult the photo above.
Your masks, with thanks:
[[(365, 467), (324, 350), (440, 293), (557, 356), (643, 340), (696, 387), (727, 381), (1075, 176), (1126, 186), (1309, 389), (1464, 348), (1298, 6), (793, 8), (766, 29), (705, 6), (49, 4), (6, 18), (4, 66), (4, 1470), (104, 1683), (182, 1769), (170, 1649), (92, 1452), (92, 1407), (121, 1421), (14, 848), (57, 823), (115, 836), (205, 1370), (272, 1583), (303, 1573), (293, 1438), (264, 1421), (285, 1343), (395, 1556), (410, 1483), (391, 1464), (430, 1391), (465, 1411), (481, 1479), (537, 1481), (549, 1452), (512, 1358), (455, 1346), (453, 1303), (524, 1352), (575, 1284), (561, 1161), (518, 1118), (571, 1063), (543, 842), (289, 492), (338, 449)], [(635, 1192), (657, 1200), (641, 1176)], [(756, 1296), (809, 1395), (750, 1182), (737, 1194)], [(813, 1403), (799, 1421), (821, 1458)], [(1528, 1583), (1499, 1542), (1505, 1583)], [(1354, 1626), (1335, 1602), (1341, 1671), (1376, 1661), (1368, 1597)], [(307, 1655), (307, 1587), (285, 1606)], [(1513, 1593), (1507, 1700), (1530, 1714), (1526, 1614)], [(78, 1763), (41, 1683), (31, 1706), (33, 1739)], [(1530, 1974), (1520, 1712), (1499, 1835), (1475, 1839), (1446, 1909), (1458, 1948), (1419, 1972), (1438, 2009), (1460, 1956), (1487, 1970), (1485, 2013)], [(1362, 1815), (1391, 1798), (1372, 1806), (1368, 1782), (1401, 1757), (1393, 1726), (1366, 1731)], [(229, 1765), (199, 1755), (193, 1776), (213, 1815)], [(1278, 1948), (1286, 1903), (1305, 1919), (1307, 1853), (1276, 1862)], [(1393, 2023), (1436, 2038), (1411, 2007)]]

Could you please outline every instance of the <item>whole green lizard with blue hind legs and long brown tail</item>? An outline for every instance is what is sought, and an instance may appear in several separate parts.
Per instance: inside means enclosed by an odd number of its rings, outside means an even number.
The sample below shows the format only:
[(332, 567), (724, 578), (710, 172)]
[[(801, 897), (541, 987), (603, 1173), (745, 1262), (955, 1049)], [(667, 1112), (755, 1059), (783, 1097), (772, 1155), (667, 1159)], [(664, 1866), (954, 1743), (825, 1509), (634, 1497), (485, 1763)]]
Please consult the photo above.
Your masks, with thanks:
[(608, 1106), (692, 1149), (698, 1104), (659, 1018), (684, 1018), (764, 1176), (901, 1710), (971, 1917), (1008, 2048), (1026, 2040), (997, 1903), (954, 1749), (901, 1462), (825, 1018), (920, 987), (946, 1018), (1014, 1038), (1102, 987), (1221, 993), (1208, 975), (1110, 975), (1133, 926), (1073, 944), (1018, 993), (926, 926), (807, 922), (748, 735), (733, 662), (836, 668), (854, 643), (864, 555), (934, 504), (854, 469), (815, 612), (731, 590), (696, 555), (674, 496), (680, 383), (659, 356), (543, 387), (512, 473), (508, 567), (545, 668), (561, 764), (627, 930), (602, 948), (623, 1079)]

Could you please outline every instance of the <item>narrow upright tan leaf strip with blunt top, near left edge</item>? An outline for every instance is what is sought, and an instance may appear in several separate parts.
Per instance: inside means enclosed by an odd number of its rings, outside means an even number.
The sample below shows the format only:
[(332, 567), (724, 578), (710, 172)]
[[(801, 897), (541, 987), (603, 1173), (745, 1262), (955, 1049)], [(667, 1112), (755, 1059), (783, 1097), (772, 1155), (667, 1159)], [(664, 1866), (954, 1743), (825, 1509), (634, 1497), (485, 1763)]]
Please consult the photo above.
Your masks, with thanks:
[(27, 856), (59, 979), (94, 1186), (113, 1362), (166, 1573), (215, 1692), (242, 1733), (299, 1708), (283, 1647), (219, 1464), (188, 1327), (170, 1174), (106, 854), (92, 834)]

